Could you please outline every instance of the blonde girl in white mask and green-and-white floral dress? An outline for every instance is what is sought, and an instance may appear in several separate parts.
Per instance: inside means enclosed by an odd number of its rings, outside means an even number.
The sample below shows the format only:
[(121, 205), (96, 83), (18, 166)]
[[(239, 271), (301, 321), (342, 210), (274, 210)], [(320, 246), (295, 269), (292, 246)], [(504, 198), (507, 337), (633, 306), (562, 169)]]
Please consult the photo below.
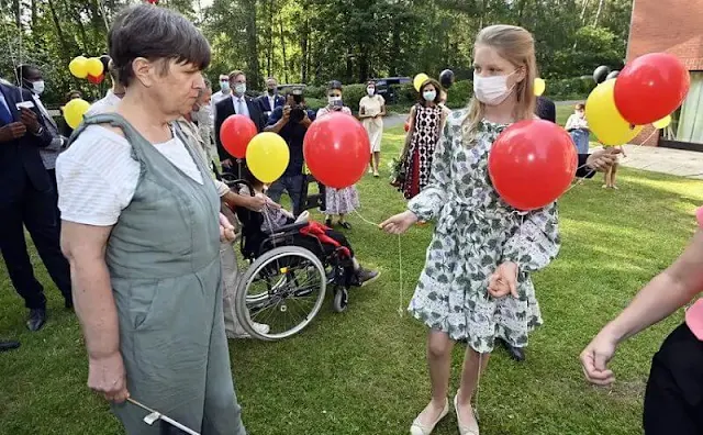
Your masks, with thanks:
[(534, 40), (510, 25), (483, 29), (473, 53), (475, 97), (468, 110), (447, 120), (428, 186), (409, 211), (381, 224), (405, 232), (417, 220), (436, 220), (425, 268), (409, 311), (429, 328), (427, 360), (432, 401), (411, 434), (427, 435), (448, 412), (454, 343), (466, 341), (461, 383), (454, 406), (459, 433), (478, 435), (471, 398), (496, 338), (515, 347), (542, 324), (529, 274), (559, 250), (557, 209), (528, 213), (506, 204), (493, 189), (488, 157), (495, 137), (511, 123), (533, 119), (536, 75)]

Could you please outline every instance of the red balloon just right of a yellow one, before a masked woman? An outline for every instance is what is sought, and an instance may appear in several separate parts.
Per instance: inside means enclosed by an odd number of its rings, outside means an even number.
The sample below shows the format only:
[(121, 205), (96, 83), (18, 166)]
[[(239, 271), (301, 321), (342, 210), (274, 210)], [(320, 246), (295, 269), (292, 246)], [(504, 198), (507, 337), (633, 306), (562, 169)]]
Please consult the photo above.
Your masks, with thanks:
[(310, 125), (303, 141), (303, 156), (310, 172), (325, 186), (344, 189), (364, 177), (371, 144), (354, 116), (336, 112)]

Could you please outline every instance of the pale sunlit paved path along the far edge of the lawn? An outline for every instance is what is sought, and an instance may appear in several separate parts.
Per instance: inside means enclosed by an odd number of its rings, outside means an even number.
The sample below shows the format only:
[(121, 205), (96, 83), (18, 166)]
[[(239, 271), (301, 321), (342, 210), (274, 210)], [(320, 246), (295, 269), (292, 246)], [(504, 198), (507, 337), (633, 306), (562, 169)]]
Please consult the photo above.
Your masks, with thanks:
[[(571, 102), (567, 101), (566, 104)], [(403, 125), (408, 115), (393, 114), (384, 120), (387, 129)], [(623, 166), (651, 170), (679, 177), (703, 180), (703, 153), (661, 148), (658, 146), (626, 145)]]

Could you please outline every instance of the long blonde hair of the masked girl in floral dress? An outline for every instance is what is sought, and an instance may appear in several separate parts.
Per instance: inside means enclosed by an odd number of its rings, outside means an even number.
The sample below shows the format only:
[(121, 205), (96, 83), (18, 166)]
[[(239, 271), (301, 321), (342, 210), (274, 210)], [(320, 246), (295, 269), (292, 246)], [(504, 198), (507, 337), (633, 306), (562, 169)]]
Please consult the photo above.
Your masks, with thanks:
[[(515, 120), (531, 120), (535, 112), (534, 82), (537, 77), (537, 60), (535, 59), (535, 40), (532, 33), (515, 25), (496, 24), (484, 27), (476, 37), (477, 45), (487, 45), (498, 51), (498, 54), (515, 67), (525, 69), (525, 78), (515, 85), (513, 92), (517, 96)], [(476, 96), (469, 101), (469, 113), (464, 120), (464, 133), (467, 142), (478, 131), (479, 123), (486, 114), (486, 104)]]

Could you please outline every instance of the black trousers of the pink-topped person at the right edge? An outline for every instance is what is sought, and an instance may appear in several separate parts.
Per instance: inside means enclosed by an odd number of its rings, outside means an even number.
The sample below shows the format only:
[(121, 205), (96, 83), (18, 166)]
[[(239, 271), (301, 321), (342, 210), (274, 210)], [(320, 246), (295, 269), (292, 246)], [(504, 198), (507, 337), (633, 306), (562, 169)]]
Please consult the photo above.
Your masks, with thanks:
[(643, 420), (646, 435), (703, 434), (703, 343), (685, 324), (651, 360)]

